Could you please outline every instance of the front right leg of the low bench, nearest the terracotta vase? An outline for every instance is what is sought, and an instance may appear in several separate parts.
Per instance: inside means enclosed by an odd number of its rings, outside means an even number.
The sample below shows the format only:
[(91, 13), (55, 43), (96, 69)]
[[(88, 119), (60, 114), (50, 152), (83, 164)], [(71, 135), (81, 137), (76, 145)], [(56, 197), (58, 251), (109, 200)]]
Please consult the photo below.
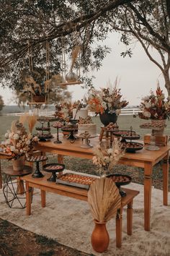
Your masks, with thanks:
[(116, 247), (122, 245), (122, 208), (117, 210), (116, 216)]

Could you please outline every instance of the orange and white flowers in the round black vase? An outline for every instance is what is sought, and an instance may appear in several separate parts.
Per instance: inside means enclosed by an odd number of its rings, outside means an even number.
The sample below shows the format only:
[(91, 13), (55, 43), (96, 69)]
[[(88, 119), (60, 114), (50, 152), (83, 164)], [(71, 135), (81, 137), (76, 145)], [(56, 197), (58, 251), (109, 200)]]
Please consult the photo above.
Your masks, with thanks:
[[(117, 80), (116, 80), (117, 81)], [(121, 113), (121, 108), (125, 108), (128, 105), (128, 101), (121, 100), (122, 95), (120, 88), (117, 88), (117, 82), (115, 86), (109, 86), (109, 88), (101, 88), (101, 90), (91, 90), (89, 96), (89, 111), (96, 114), (117, 114)]]

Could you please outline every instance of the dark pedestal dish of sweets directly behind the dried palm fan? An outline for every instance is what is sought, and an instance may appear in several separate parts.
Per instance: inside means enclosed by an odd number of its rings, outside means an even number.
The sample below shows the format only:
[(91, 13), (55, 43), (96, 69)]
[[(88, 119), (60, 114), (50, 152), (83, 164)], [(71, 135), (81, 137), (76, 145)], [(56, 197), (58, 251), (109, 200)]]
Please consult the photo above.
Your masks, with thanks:
[(120, 190), (121, 197), (125, 197), (126, 192), (121, 189), (120, 186), (125, 186), (130, 184), (132, 181), (132, 178), (128, 175), (123, 174), (109, 174), (107, 175), (107, 178), (112, 179), (113, 182), (115, 182), (117, 188)]

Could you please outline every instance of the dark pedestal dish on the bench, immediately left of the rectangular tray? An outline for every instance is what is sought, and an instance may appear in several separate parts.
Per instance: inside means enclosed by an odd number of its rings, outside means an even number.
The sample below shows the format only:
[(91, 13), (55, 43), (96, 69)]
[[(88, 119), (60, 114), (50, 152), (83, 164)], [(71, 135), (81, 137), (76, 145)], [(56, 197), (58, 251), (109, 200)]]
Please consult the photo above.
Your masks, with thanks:
[(42, 168), (44, 171), (52, 173), (48, 182), (56, 182), (56, 173), (63, 171), (65, 165), (62, 163), (47, 163)]

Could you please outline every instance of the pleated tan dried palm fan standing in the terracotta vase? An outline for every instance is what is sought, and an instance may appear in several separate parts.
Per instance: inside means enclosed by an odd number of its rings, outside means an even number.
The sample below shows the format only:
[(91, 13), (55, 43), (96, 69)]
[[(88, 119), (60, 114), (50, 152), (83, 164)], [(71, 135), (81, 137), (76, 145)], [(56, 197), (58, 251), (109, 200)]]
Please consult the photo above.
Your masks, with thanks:
[(91, 184), (88, 192), (88, 203), (92, 216), (98, 222), (113, 218), (121, 205), (119, 189), (111, 179), (102, 177)]

